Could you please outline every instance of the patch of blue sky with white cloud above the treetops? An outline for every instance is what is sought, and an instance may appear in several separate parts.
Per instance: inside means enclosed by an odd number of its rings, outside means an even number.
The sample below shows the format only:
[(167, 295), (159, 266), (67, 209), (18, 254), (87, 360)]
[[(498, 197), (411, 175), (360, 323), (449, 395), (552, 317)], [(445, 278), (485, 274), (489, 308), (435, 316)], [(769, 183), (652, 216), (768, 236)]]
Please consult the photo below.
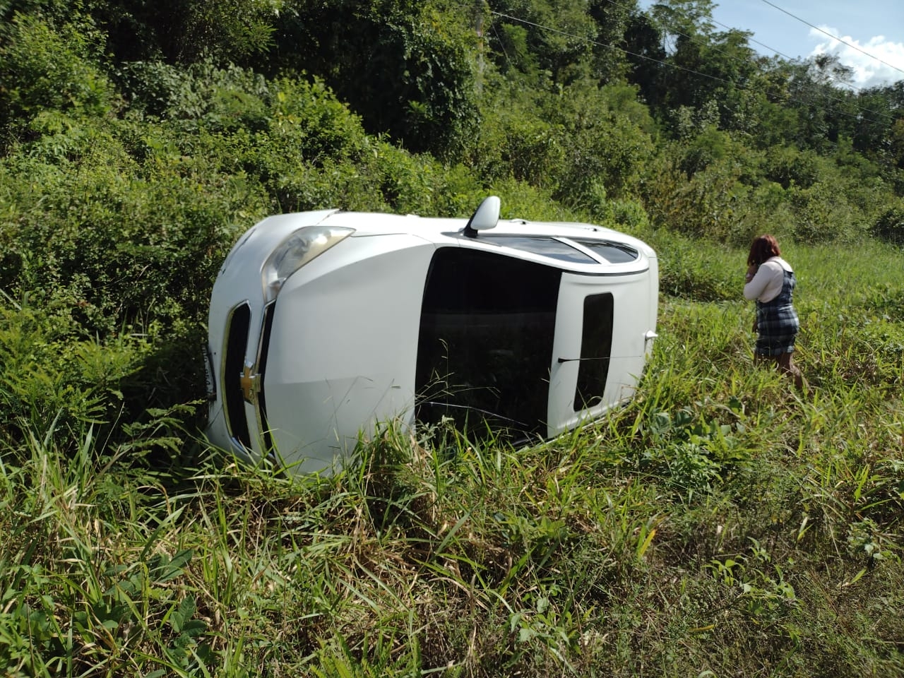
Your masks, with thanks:
[(904, 0), (724, 0), (712, 18), (717, 30), (752, 32), (767, 56), (837, 54), (858, 88), (904, 80)]

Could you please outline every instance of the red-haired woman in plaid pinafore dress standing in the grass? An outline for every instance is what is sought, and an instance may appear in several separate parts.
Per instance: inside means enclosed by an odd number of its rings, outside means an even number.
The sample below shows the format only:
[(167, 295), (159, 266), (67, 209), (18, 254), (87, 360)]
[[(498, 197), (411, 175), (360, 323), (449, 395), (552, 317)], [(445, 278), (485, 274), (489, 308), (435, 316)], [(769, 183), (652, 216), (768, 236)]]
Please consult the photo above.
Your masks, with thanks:
[(753, 323), (753, 331), (757, 333), (756, 360), (775, 363), (794, 379), (797, 388), (803, 388), (804, 376), (791, 360), (800, 331), (792, 302), (794, 270), (782, 259), (778, 242), (771, 235), (753, 240), (747, 265), (744, 297), (757, 300), (757, 319)]

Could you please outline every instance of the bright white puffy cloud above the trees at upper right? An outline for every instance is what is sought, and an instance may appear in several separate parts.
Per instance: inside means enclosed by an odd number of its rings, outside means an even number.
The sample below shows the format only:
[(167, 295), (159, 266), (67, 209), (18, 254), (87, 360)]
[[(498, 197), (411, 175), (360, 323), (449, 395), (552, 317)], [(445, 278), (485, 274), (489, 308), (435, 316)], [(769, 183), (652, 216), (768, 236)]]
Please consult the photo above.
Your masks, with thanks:
[[(833, 40), (825, 33), (838, 37)], [(857, 88), (890, 85), (904, 80), (904, 42), (892, 42), (884, 35), (877, 35), (867, 42), (839, 35), (829, 26), (810, 29), (810, 37), (819, 40), (810, 56), (834, 54), (843, 65), (853, 70), (852, 84)]]

